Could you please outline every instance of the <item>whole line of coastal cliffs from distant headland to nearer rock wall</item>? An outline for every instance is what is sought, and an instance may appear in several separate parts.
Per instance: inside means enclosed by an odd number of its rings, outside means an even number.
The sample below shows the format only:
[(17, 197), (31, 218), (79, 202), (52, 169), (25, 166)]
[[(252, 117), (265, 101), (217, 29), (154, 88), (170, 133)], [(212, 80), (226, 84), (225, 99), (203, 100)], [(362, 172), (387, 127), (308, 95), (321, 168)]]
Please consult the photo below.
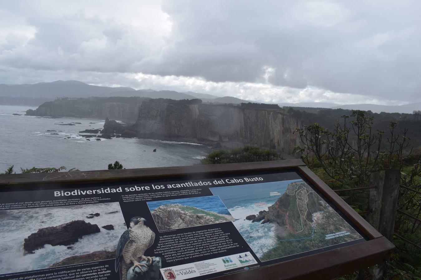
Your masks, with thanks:
[[(280, 109), (203, 104), (199, 99), (144, 97), (60, 98), (45, 102), (27, 115), (53, 118), (109, 119), (102, 133), (227, 148), (255, 145), (291, 154), (299, 144), (301, 121)], [(133, 125), (122, 126), (113, 120)], [(219, 144), (218, 144), (219, 143)]]

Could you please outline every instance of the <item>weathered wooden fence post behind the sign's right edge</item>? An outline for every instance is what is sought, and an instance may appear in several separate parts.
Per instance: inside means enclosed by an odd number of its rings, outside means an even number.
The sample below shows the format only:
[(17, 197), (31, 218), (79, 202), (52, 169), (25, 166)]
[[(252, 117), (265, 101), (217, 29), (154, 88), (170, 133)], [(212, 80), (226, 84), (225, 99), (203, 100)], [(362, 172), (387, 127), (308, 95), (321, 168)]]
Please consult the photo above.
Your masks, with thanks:
[[(397, 200), (399, 196), (400, 170), (386, 169), (371, 173), (368, 198), (367, 221), (383, 236), (393, 242), (393, 231), (396, 219)], [(372, 279), (383, 279), (386, 271), (384, 265), (370, 267)], [(361, 274), (360, 274), (361, 275)]]

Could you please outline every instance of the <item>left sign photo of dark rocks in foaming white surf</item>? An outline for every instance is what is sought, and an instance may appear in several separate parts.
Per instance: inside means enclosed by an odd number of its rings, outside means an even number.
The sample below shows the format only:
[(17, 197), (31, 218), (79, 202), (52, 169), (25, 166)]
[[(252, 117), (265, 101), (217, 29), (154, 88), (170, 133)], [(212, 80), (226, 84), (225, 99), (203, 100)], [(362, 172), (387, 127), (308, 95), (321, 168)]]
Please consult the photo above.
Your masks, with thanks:
[(0, 274), (115, 258), (118, 202), (0, 211)]

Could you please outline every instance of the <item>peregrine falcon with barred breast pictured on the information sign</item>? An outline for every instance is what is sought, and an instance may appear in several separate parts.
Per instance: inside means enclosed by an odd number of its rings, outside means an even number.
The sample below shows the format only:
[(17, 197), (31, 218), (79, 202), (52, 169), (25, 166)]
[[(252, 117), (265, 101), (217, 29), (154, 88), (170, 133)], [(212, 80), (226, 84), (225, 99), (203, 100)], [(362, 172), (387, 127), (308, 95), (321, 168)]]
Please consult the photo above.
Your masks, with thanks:
[(133, 267), (148, 268), (147, 264), (141, 263), (147, 261), (150, 265), (152, 258), (144, 256), (145, 251), (152, 246), (155, 241), (155, 233), (144, 223), (146, 220), (142, 217), (133, 217), (130, 220), (130, 228), (126, 230), (120, 237), (117, 245), (115, 271), (118, 272), (120, 267), (120, 279), (126, 280), (127, 271)]

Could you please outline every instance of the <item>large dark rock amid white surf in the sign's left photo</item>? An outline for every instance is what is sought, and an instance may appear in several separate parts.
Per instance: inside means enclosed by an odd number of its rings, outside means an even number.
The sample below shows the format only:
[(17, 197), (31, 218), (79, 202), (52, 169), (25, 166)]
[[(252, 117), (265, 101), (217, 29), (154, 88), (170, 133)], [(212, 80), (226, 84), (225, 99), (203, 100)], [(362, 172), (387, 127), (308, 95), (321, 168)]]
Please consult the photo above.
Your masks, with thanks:
[(52, 246), (71, 245), (76, 243), (82, 236), (99, 233), (98, 225), (92, 225), (84, 220), (67, 222), (62, 225), (48, 228), (40, 228), (36, 233), (32, 233), (24, 240), (24, 250), (27, 253), (34, 253), (45, 244)]

